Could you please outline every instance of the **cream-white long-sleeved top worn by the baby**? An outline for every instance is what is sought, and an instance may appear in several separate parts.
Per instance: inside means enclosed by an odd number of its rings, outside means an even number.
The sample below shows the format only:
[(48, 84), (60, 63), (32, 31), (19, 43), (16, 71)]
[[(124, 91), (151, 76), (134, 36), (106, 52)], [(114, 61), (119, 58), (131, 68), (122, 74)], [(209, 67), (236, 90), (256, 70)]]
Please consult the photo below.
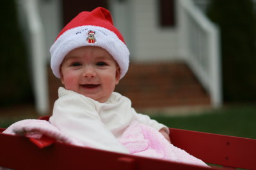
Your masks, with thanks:
[(150, 125), (157, 131), (163, 127), (168, 131), (166, 126), (156, 120), (136, 113), (131, 107), (131, 101), (116, 92), (105, 103), (99, 103), (63, 87), (58, 92), (59, 99), (54, 103), (50, 122), (84, 145), (128, 153), (118, 142), (118, 138), (134, 120)]

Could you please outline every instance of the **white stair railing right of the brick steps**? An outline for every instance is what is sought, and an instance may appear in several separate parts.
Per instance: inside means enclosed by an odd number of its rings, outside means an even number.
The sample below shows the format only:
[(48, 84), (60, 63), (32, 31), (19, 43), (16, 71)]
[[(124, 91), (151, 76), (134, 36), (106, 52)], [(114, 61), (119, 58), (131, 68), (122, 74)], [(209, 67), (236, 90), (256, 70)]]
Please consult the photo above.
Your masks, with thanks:
[(211, 96), (212, 105), (222, 104), (220, 34), (218, 27), (191, 0), (177, 1), (180, 46), (189, 66)]

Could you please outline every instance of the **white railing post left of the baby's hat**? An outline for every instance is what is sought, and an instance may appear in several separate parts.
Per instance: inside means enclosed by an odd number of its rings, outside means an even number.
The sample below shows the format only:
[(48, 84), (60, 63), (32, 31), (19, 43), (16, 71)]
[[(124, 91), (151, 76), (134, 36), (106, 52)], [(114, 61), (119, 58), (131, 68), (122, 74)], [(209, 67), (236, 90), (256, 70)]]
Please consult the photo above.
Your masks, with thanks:
[(38, 0), (17, 0), (19, 14), (22, 15), (22, 21), (26, 23), (22, 23), (22, 26), (28, 36), (36, 111), (43, 115), (49, 111), (49, 95), (44, 29), (38, 5)]

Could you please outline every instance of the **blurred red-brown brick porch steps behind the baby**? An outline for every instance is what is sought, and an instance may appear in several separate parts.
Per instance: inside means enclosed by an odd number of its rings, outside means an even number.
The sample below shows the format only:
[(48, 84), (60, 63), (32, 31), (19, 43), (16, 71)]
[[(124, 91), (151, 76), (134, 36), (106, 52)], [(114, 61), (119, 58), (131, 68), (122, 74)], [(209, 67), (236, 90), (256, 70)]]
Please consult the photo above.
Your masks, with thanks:
[[(60, 80), (49, 68), (51, 107), (58, 99)], [(183, 62), (135, 64), (116, 86), (116, 92), (129, 97), (134, 108), (209, 106), (210, 97)]]

